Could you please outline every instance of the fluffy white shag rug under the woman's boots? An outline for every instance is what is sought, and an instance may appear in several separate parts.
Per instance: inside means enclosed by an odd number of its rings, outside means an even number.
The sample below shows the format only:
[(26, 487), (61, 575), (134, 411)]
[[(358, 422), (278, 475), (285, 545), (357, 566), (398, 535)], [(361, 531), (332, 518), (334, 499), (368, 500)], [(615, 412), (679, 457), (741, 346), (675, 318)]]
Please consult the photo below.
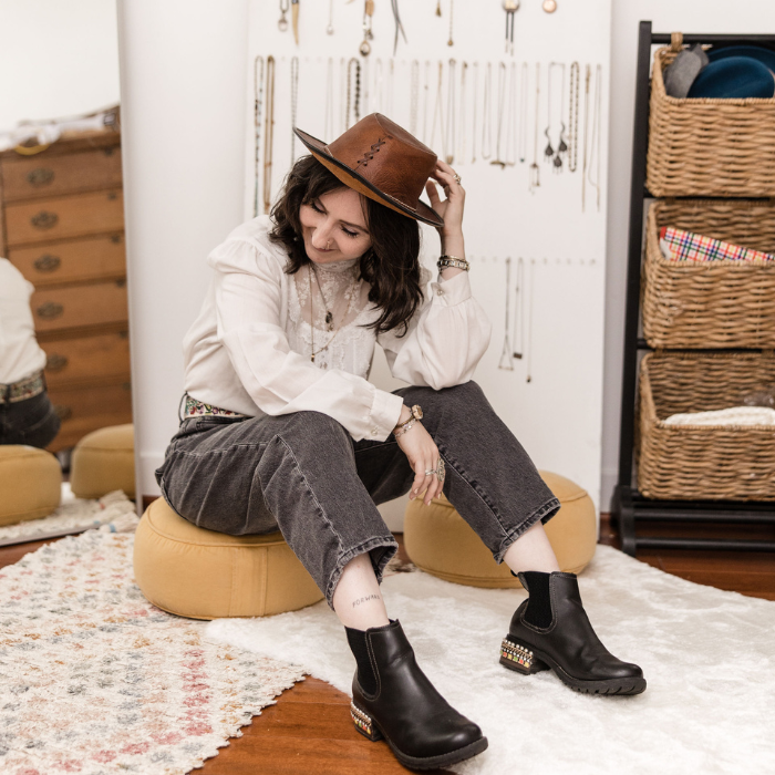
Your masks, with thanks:
[[(383, 582), (421, 666), (477, 722), (489, 748), (451, 767), (473, 775), (772, 775), (775, 602), (685, 581), (599, 546), (580, 577), (606, 645), (643, 668), (633, 698), (577, 694), (551, 672), (498, 663), (523, 590), (427, 574)], [(350, 694), (354, 660), (324, 602), (268, 619), (210, 622), (205, 638), (292, 661)], [(371, 745), (368, 741), (364, 745)]]

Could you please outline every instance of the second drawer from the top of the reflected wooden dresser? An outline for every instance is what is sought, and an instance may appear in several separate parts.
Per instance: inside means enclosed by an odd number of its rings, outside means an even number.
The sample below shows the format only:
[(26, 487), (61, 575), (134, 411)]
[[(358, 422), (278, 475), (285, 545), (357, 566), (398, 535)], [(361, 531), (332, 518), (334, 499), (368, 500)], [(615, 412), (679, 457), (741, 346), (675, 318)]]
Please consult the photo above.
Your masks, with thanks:
[(123, 228), (124, 197), (121, 189), (73, 194), (6, 207), (6, 234), (11, 247), (101, 231), (122, 231)]

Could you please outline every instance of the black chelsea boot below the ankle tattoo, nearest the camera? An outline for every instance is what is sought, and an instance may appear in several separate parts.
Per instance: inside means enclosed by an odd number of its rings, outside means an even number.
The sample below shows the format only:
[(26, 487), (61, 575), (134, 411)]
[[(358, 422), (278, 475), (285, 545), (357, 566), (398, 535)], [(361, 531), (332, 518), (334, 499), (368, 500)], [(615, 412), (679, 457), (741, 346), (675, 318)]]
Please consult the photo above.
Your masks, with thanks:
[(371, 741), (385, 738), (411, 769), (432, 769), (482, 753), (482, 730), (434, 689), (397, 620), (369, 630), (345, 628), (359, 663), (350, 712)]

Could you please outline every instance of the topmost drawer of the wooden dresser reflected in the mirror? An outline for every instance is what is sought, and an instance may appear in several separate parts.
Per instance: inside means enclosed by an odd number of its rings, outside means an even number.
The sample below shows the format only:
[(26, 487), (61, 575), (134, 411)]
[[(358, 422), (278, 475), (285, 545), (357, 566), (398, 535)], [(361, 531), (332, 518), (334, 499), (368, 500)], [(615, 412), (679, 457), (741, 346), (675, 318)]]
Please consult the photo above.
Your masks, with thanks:
[(0, 162), (6, 202), (121, 187), (121, 148), (38, 154)]

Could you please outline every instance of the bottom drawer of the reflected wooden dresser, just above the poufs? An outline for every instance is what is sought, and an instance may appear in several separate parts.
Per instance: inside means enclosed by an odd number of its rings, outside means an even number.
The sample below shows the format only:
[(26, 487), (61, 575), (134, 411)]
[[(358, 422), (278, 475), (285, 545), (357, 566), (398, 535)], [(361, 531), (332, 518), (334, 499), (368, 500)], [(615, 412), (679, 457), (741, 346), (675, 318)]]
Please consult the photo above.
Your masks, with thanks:
[(66, 450), (83, 436), (107, 425), (132, 422), (132, 386), (125, 381), (86, 388), (56, 388), (49, 397), (62, 421), (56, 438), (49, 450)]

